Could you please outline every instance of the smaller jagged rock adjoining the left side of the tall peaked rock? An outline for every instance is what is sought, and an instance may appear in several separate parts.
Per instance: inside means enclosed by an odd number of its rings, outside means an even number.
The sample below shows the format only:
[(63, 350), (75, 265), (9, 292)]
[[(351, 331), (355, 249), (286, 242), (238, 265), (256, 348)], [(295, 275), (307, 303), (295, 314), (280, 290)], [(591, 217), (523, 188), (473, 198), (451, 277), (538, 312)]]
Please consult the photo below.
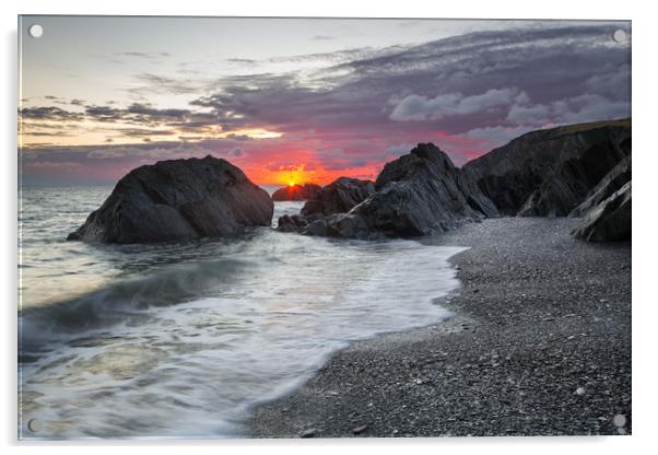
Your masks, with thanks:
[(345, 213), (373, 192), (375, 186), (369, 180), (340, 177), (322, 187), (314, 199), (307, 201), (302, 208), (302, 214), (307, 217), (316, 213), (325, 215)]

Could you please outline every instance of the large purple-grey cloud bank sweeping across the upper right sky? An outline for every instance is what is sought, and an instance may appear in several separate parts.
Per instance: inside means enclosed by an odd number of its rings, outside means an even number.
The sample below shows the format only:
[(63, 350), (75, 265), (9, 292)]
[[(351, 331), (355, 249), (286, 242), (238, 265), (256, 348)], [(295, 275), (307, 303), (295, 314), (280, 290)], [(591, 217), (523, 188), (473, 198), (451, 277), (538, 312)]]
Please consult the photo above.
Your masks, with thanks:
[[(623, 117), (630, 115), (630, 49), (611, 40), (618, 27), (567, 22), (350, 50), (350, 61), (315, 79), (294, 73), (226, 78), (221, 91), (191, 104), (212, 109), (232, 127), (341, 128), (362, 136), (414, 129), (461, 135)], [(345, 56), (334, 54), (286, 59)]]

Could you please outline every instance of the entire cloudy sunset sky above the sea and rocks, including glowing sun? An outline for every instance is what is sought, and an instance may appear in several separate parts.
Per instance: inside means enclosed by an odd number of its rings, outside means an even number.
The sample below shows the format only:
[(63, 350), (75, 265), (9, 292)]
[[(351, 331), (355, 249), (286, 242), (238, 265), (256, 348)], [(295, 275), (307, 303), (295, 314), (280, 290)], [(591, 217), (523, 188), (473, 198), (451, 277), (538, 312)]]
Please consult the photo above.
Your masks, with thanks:
[(22, 16), (19, 34), (23, 185), (208, 154), (260, 185), (327, 184), (419, 142), (462, 165), (631, 116), (630, 22)]

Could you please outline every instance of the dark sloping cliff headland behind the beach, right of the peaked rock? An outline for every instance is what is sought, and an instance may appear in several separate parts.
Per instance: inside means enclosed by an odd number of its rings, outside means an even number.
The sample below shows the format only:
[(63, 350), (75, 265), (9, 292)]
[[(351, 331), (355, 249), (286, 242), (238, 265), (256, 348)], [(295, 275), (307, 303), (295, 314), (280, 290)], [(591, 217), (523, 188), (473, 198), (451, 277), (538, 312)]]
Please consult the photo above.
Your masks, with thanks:
[(630, 142), (631, 119), (571, 125), (528, 132), (462, 168), (504, 215), (567, 214), (630, 153)]

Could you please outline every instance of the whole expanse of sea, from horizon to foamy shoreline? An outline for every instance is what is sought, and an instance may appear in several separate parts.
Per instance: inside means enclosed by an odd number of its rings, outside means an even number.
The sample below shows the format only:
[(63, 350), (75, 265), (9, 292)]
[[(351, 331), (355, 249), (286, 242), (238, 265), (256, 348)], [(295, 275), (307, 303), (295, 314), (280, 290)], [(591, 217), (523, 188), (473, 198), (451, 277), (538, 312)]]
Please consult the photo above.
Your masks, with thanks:
[[(110, 190), (21, 192), (20, 438), (248, 435), (254, 406), (350, 340), (450, 316), (433, 301), (458, 287), (447, 259), (460, 247), (270, 228), (186, 244), (66, 242)], [(273, 222), (302, 205), (278, 202)]]

